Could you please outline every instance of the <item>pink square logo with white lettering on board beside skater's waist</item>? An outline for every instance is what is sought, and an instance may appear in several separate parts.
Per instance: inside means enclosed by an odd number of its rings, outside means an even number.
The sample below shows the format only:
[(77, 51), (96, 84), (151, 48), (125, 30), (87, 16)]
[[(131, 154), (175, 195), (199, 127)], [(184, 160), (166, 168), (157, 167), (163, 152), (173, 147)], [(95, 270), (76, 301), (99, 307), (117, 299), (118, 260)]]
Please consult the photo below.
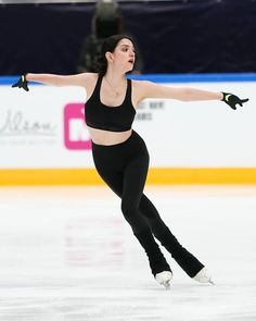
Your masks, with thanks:
[(85, 103), (67, 103), (64, 108), (64, 144), (67, 149), (91, 149), (85, 122)]

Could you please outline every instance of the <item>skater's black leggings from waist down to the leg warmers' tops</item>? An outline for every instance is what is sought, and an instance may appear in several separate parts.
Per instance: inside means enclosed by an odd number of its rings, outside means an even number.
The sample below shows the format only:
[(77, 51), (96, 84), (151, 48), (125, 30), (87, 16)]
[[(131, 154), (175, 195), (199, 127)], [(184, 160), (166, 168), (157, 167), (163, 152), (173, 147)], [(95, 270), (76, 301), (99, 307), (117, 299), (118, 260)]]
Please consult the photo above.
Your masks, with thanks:
[(166, 225), (143, 194), (149, 169), (144, 140), (132, 131), (127, 140), (117, 145), (92, 143), (92, 156), (100, 176), (121, 198), (121, 211), (133, 233), (150, 227), (153, 234), (163, 234)]

